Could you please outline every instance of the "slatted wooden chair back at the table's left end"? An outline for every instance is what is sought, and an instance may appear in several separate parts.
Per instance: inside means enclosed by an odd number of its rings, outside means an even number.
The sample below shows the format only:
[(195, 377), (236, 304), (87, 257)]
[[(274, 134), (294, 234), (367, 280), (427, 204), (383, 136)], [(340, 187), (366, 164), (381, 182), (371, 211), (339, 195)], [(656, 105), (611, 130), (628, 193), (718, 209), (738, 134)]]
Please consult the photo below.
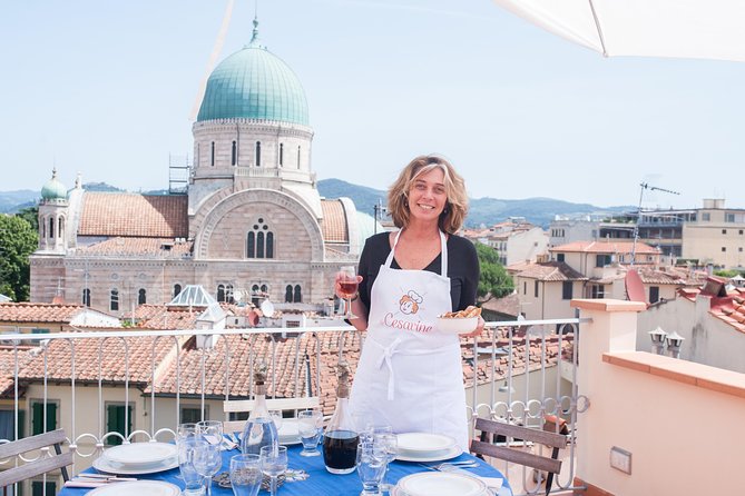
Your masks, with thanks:
[(75, 454), (71, 452), (62, 453), (60, 448), (62, 443), (65, 443), (65, 430), (57, 429), (0, 445), (0, 459), (12, 458), (49, 446), (53, 447), (53, 452), (50, 450), (49, 456), (42, 454), (33, 462), (0, 472), (0, 487), (10, 486), (57, 468), (61, 469), (62, 478), (68, 482), (70, 477), (67, 473), (67, 466), (72, 465)]

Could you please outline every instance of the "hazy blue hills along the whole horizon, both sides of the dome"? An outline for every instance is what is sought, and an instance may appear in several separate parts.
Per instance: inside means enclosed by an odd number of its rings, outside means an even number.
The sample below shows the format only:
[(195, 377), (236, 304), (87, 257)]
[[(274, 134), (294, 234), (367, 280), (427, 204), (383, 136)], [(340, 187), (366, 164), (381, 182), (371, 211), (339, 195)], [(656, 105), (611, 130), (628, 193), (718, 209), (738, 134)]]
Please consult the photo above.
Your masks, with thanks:
[[(341, 179), (323, 179), (317, 182), (318, 192), (322, 197), (340, 198), (347, 197), (354, 201), (357, 210), (370, 216), (373, 207), (379, 202), (386, 205), (386, 192), (357, 186)], [(89, 182), (82, 186), (88, 191), (124, 191), (120, 188), (106, 182)], [(147, 195), (165, 195), (167, 190), (146, 191)], [(39, 191), (29, 189), (18, 191), (0, 191), (0, 212), (14, 214), (18, 210), (32, 207), (39, 200)], [(570, 201), (556, 200), (551, 198), (528, 198), (523, 200), (500, 200), (496, 198), (471, 199), (470, 210), (465, 225), (478, 227), (492, 225), (506, 220), (509, 217), (525, 217), (528, 221), (543, 228), (553, 220), (557, 215), (581, 216), (589, 214), (617, 214), (635, 211), (631, 206), (599, 208), (589, 204), (572, 204)]]

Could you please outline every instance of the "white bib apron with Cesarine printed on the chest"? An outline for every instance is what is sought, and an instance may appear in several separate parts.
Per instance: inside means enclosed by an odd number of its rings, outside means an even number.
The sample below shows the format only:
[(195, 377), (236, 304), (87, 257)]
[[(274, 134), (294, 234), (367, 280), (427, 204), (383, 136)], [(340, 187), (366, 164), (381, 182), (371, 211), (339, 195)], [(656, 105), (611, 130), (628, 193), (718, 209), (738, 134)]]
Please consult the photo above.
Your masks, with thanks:
[(445, 236), (440, 231), (441, 274), (392, 269), (399, 236), (372, 287), (352, 411), (394, 433), (445, 434), (467, 450), (460, 340), (435, 329), (438, 316), (452, 310)]

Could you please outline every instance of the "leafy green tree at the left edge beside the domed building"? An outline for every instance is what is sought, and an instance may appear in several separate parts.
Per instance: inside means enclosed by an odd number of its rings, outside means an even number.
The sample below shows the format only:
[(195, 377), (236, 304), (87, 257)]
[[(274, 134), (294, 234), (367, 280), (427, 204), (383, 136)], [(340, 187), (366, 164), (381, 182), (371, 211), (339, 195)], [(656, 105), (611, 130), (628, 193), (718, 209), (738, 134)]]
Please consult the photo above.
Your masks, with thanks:
[(28, 301), (29, 255), (38, 244), (38, 234), (26, 219), (0, 215), (0, 294), (16, 301)]

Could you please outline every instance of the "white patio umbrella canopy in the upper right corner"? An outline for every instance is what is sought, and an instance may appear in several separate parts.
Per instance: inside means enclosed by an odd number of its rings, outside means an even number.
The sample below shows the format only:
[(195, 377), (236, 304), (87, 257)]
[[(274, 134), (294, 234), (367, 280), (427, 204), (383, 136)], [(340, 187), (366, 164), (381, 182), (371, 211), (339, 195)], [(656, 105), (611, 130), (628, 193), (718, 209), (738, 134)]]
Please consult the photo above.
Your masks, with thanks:
[(606, 57), (745, 61), (744, 0), (493, 0)]

